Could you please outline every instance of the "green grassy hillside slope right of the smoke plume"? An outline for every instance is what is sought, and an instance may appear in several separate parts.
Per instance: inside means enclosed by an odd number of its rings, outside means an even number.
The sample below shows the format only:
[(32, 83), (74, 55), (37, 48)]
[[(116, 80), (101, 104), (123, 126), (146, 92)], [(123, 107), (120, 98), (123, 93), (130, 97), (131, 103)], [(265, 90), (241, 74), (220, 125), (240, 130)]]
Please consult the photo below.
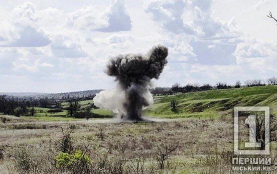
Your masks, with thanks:
[[(171, 100), (177, 100), (172, 111)], [(154, 104), (144, 111), (148, 116), (216, 117), (232, 113), (234, 106), (270, 106), (277, 113), (277, 86), (256, 86), (189, 92), (169, 96), (155, 96)]]

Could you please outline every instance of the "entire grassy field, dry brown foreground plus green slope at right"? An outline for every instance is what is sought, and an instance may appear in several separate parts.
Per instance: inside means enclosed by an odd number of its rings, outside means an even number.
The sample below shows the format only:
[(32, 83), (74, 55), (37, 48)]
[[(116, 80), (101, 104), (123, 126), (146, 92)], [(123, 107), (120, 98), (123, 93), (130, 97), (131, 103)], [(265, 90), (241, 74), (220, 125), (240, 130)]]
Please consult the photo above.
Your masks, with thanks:
[[(172, 99), (178, 101), (175, 112), (170, 107)], [(233, 106), (270, 106), (271, 112), (277, 113), (276, 86), (179, 93), (155, 96), (154, 100), (145, 115), (179, 119), (141, 123), (109, 123), (105, 119), (96, 123), (55, 115), (0, 115), (0, 173), (81, 171), (80, 163), (70, 168), (55, 164), (61, 153), (57, 142), (63, 137), (62, 131), (70, 131), (70, 127), (74, 127), (70, 139), (73, 152), (83, 150), (89, 158), (86, 164), (89, 173), (233, 173)], [(82, 101), (82, 104), (90, 102)], [(42, 110), (47, 112), (45, 108)], [(111, 114), (102, 108), (92, 111)], [(241, 146), (249, 137), (242, 124), (245, 117), (240, 119)], [(174, 146), (177, 148), (161, 168), (161, 152)], [(276, 142), (270, 142), (270, 149), (270, 156), (277, 162)], [(30, 167), (24, 168), (22, 163)]]

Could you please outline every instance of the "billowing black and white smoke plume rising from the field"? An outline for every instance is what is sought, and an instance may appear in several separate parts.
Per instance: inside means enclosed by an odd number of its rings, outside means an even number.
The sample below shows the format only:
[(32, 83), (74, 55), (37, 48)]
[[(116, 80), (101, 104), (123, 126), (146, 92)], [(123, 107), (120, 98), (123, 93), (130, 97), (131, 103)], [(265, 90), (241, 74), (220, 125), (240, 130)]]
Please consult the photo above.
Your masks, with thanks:
[(168, 48), (154, 46), (145, 56), (118, 55), (110, 59), (106, 73), (118, 82), (116, 89), (101, 91), (94, 97), (98, 107), (106, 107), (121, 118), (142, 120), (142, 110), (153, 103), (151, 79), (158, 79), (167, 64)]

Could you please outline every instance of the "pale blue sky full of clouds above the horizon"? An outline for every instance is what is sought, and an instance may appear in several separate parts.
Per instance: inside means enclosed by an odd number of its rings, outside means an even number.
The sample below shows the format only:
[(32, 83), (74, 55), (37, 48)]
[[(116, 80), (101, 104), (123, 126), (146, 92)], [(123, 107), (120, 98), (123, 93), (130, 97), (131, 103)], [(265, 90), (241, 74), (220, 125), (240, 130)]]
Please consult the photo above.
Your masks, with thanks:
[(0, 0), (0, 91), (112, 88), (117, 54), (169, 47), (153, 86), (277, 75), (276, 0)]

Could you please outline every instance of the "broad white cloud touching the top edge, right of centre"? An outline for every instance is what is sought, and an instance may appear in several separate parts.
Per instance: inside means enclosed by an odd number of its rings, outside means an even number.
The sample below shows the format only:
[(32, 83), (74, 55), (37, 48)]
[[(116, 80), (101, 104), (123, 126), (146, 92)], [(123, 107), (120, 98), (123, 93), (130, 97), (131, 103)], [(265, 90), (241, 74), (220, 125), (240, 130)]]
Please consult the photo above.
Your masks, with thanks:
[(221, 21), (212, 16), (212, 0), (149, 0), (145, 11), (164, 29), (198, 37), (237, 37), (239, 30), (232, 18)]

